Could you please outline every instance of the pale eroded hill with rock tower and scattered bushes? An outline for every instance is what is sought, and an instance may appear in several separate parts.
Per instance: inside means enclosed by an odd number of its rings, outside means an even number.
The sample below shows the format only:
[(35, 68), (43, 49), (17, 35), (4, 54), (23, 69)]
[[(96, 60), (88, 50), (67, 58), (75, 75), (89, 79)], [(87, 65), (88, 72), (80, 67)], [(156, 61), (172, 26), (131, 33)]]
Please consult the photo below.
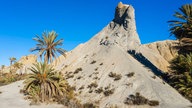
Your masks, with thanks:
[(167, 56), (175, 55), (169, 49), (174, 42), (141, 45), (134, 8), (120, 2), (114, 19), (88, 42), (60, 57), (57, 69), (76, 88), (81, 103), (95, 103), (100, 108), (151, 107), (128, 105), (134, 95), (141, 95), (159, 102), (155, 107), (185, 108), (191, 103), (156, 76), (167, 70), (171, 59)]

